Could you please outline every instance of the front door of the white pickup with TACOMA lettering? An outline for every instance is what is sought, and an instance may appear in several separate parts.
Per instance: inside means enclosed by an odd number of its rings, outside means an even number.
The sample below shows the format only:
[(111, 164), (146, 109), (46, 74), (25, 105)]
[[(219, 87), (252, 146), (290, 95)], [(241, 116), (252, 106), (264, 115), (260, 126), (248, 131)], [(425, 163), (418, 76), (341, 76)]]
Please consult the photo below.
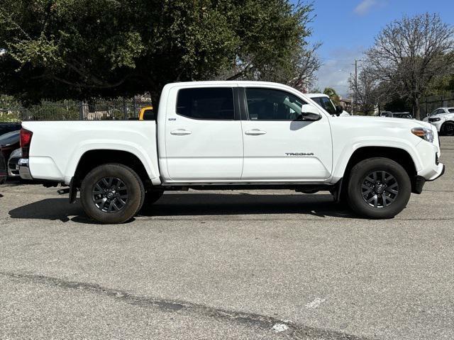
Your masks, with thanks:
[(240, 91), (244, 98), (241, 179), (316, 182), (331, 176), (331, 129), (326, 115), (317, 121), (298, 120), (297, 106), (306, 102), (280, 89)]

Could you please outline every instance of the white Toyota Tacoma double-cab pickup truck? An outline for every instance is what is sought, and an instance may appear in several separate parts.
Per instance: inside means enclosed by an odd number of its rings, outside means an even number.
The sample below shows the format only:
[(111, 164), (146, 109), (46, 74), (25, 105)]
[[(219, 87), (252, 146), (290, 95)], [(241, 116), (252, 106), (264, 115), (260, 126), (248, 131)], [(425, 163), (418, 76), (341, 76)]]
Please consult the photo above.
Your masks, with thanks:
[[(330, 191), (389, 218), (443, 174), (438, 134), (416, 120), (336, 117), (289, 86), (168, 84), (156, 120), (24, 122), (23, 179), (70, 186), (92, 219), (131, 219), (164, 191)], [(144, 206), (145, 207), (145, 206)]]

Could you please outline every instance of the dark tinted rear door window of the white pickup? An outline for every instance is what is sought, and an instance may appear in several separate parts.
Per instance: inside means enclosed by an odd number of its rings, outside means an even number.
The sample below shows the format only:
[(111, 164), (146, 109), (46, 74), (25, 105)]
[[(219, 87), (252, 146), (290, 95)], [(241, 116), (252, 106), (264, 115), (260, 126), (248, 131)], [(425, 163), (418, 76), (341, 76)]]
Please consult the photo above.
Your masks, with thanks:
[(233, 89), (181, 89), (177, 96), (177, 114), (192, 119), (233, 120)]

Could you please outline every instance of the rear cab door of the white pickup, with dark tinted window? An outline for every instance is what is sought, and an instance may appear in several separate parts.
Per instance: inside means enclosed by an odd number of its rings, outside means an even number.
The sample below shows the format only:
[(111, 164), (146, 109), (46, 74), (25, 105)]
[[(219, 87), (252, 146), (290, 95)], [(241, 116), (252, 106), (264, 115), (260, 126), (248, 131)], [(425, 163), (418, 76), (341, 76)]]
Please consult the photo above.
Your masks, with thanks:
[(165, 123), (171, 181), (233, 181), (243, 168), (243, 135), (236, 86), (175, 87)]

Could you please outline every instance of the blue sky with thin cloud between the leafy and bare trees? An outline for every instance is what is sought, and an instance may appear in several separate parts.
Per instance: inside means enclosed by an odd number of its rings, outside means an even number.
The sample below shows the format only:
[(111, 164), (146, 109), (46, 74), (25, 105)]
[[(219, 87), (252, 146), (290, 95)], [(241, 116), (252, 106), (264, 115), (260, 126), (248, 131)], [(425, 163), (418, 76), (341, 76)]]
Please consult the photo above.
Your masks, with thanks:
[(309, 41), (323, 44), (318, 52), (323, 64), (316, 85), (321, 91), (333, 87), (341, 96), (348, 96), (355, 59), (362, 58), (377, 33), (404, 15), (425, 12), (438, 13), (445, 23), (454, 25), (454, 0), (314, 0)]

